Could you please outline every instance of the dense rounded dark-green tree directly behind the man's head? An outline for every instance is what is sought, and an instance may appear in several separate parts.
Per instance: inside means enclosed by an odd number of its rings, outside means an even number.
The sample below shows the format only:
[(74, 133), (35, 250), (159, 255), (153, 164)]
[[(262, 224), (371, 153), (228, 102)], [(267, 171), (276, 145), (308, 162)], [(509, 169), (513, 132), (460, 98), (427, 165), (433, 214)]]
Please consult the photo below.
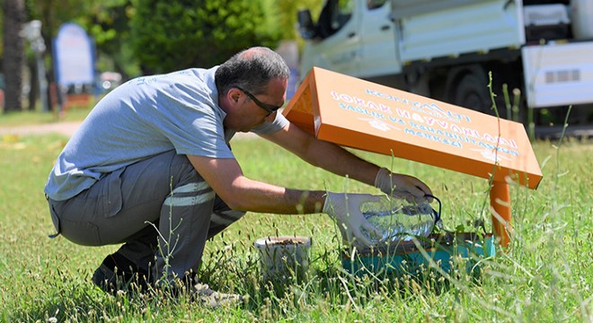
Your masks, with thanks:
[(270, 0), (135, 0), (134, 53), (145, 74), (209, 67), (252, 46), (280, 39)]

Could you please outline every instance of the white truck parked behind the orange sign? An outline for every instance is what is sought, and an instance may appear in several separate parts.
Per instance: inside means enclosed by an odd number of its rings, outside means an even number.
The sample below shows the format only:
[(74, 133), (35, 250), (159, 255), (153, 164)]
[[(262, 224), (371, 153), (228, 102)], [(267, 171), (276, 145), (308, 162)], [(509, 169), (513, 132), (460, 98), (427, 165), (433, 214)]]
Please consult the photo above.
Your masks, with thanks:
[(315, 65), (493, 113), (491, 72), (503, 117), (505, 83), (521, 106), (573, 105), (591, 124), (593, 0), (327, 0), (316, 22), (308, 9), (298, 22), (302, 78)]

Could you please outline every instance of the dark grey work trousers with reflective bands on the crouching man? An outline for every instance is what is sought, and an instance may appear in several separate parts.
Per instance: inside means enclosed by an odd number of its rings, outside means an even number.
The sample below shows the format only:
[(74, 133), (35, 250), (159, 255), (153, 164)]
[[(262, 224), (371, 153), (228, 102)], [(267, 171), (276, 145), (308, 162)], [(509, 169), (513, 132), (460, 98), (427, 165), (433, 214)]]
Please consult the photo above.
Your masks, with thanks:
[(124, 243), (119, 254), (167, 280), (196, 273), (206, 240), (245, 214), (230, 210), (174, 151), (113, 171), (69, 200), (49, 199), (49, 211), (67, 240)]

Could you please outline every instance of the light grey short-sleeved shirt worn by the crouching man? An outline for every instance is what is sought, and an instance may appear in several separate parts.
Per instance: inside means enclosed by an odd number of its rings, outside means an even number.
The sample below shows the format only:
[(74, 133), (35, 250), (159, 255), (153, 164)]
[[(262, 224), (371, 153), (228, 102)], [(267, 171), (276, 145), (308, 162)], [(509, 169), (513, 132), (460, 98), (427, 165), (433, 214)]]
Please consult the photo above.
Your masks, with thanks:
[[(214, 82), (217, 67), (138, 77), (107, 94), (59, 154), (45, 186), (53, 200), (71, 198), (107, 173), (175, 150), (235, 158), (223, 127)], [(280, 113), (252, 132), (270, 134), (288, 124)]]

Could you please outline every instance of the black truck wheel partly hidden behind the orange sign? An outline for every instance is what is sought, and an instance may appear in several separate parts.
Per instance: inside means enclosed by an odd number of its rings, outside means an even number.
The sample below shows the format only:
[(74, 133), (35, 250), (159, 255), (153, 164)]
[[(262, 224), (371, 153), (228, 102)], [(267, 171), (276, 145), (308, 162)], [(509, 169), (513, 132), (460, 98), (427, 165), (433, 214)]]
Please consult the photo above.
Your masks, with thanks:
[(486, 80), (475, 74), (465, 74), (457, 84), (454, 104), (494, 115)]

